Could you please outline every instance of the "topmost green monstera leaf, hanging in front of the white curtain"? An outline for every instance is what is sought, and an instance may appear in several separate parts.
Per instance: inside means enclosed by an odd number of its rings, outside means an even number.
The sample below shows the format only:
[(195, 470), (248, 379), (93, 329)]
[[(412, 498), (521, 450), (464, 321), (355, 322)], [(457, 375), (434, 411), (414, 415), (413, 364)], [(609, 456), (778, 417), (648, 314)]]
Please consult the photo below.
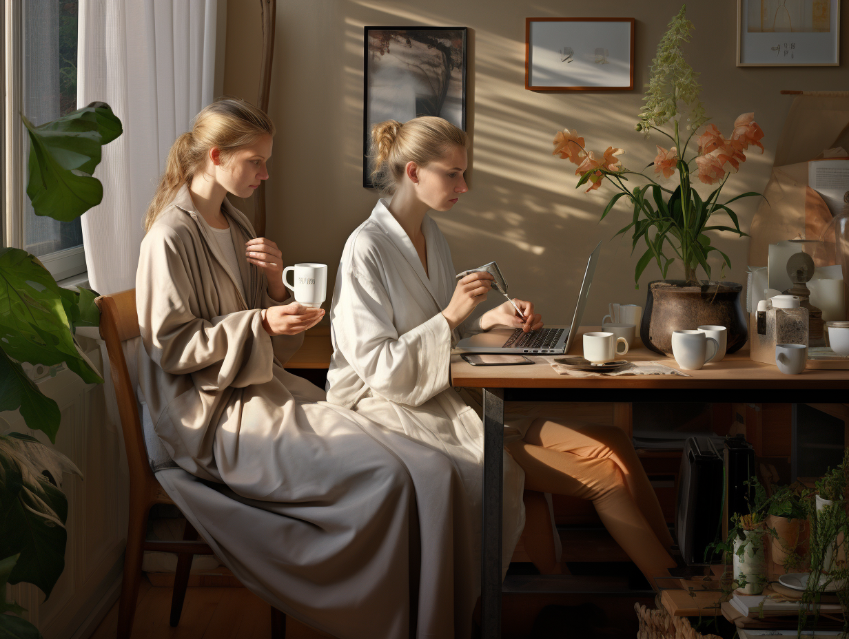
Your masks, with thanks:
[(21, 120), (30, 134), (26, 194), (36, 215), (72, 221), (100, 204), (103, 185), (92, 174), (100, 148), (122, 132), (109, 104), (93, 102), (42, 126)]

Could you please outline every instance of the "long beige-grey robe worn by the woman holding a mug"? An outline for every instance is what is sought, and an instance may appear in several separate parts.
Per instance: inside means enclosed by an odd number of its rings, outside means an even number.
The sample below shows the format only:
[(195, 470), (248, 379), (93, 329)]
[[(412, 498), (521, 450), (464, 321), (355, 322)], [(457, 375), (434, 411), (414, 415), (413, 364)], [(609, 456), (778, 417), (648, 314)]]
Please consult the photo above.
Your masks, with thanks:
[(302, 338), (262, 328), (277, 302), (244, 258), (253, 228), (224, 211), (239, 273), (185, 186), (138, 264), (139, 386), (174, 461), (218, 486), (181, 507), (245, 586), (340, 639), (465, 639), (476, 584), (452, 465), (284, 370)]

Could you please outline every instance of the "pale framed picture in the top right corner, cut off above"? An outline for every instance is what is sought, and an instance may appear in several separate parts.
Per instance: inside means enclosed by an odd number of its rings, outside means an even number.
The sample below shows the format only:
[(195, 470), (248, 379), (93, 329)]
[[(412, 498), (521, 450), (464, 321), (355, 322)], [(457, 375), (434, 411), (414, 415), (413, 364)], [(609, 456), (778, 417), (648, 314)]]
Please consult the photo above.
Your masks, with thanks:
[(837, 66), (840, 0), (737, 0), (737, 66)]

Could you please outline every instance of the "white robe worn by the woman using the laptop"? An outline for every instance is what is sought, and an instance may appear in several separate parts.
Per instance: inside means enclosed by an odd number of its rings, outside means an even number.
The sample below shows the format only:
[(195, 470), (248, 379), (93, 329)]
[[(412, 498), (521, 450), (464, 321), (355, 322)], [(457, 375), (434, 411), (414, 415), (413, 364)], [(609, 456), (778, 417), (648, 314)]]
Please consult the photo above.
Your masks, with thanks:
[[(348, 238), (330, 306), (327, 399), (446, 452), (474, 508), (479, 544), (483, 423), (449, 374), (452, 346), (477, 322), (448, 328), (441, 311), (456, 287), (451, 250), (430, 216), (422, 232), (428, 274), (383, 199)], [(524, 471), (505, 454), (503, 570), (525, 526), (524, 483)]]

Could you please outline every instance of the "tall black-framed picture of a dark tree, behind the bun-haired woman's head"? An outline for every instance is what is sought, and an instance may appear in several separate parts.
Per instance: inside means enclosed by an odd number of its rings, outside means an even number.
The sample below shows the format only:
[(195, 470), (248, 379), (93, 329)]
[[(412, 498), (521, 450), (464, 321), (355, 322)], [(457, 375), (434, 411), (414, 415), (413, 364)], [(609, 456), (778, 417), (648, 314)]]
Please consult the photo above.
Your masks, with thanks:
[(363, 187), (372, 186), (371, 128), (436, 115), (466, 130), (466, 27), (364, 29)]

